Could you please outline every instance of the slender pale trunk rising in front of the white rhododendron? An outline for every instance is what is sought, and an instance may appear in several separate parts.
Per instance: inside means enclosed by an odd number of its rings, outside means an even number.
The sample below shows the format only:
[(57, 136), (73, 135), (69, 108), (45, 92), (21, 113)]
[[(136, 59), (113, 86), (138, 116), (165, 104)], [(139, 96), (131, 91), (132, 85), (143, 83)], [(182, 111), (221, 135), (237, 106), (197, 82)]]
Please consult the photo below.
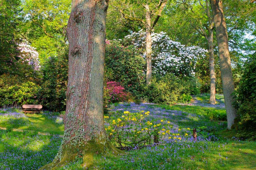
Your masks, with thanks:
[(146, 60), (147, 60), (147, 77), (146, 84), (149, 85), (152, 78), (152, 42), (151, 42), (151, 18), (148, 5), (146, 8)]

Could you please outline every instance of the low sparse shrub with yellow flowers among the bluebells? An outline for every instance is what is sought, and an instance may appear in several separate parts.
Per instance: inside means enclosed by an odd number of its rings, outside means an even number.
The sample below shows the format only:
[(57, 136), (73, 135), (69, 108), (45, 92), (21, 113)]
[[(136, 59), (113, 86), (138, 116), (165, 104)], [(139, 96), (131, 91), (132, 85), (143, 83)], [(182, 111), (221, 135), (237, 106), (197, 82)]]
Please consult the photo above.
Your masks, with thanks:
[(190, 134), (189, 128), (175, 129), (171, 122), (165, 119), (148, 121), (149, 114), (145, 111), (124, 111), (122, 114), (116, 114), (116, 117), (104, 116), (105, 130), (111, 142), (118, 144), (120, 148), (126, 148), (152, 145), (164, 140), (177, 142)]

